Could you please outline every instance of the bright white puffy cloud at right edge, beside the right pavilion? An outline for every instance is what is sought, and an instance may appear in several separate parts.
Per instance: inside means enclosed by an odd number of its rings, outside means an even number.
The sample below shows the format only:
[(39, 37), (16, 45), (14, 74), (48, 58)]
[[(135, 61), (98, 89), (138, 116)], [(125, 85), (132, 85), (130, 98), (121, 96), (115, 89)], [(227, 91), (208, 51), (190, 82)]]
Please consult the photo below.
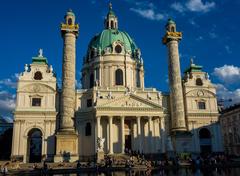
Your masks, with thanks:
[(239, 84), (240, 68), (233, 65), (224, 65), (214, 68), (213, 75), (226, 84)]

